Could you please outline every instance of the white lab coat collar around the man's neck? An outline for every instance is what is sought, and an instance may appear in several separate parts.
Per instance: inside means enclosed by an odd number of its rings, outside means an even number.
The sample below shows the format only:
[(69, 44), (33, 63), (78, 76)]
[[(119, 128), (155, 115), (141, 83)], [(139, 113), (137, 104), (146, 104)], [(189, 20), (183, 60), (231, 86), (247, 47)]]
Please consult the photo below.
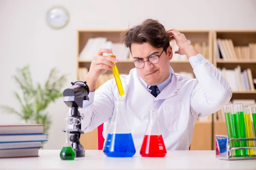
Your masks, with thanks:
[[(158, 96), (155, 98), (155, 100), (168, 99), (168, 98), (178, 94), (178, 88), (180, 88), (180, 82), (171, 66), (169, 69), (170, 69), (170, 74), (172, 76), (172, 81), (163, 89), (163, 91), (160, 92), (160, 94), (158, 94)], [(139, 76), (138, 73), (137, 73), (137, 75), (141, 82), (141, 85), (143, 85), (143, 87), (145, 89), (147, 89), (147, 87), (148, 87), (147, 83), (144, 82), (144, 80)]]

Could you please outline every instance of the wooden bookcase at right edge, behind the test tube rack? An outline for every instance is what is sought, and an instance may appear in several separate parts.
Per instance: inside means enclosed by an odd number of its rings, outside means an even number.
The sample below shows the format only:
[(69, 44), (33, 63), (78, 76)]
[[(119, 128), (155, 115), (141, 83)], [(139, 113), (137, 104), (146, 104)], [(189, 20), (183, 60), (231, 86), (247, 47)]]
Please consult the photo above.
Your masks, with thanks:
[[(254, 105), (256, 100), (256, 30), (214, 30), (213, 63), (230, 82), (232, 103)], [(227, 135), (223, 109), (213, 114), (215, 134)]]

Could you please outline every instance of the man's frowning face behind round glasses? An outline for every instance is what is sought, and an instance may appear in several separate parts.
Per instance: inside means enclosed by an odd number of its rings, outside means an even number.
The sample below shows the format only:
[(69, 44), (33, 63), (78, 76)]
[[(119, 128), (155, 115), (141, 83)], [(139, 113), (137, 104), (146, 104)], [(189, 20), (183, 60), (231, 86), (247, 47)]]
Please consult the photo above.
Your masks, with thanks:
[[(163, 48), (154, 48), (147, 42), (144, 42), (143, 44), (131, 44), (133, 60), (135, 61), (136, 59), (141, 59), (144, 61), (144, 67), (136, 69), (140, 77), (148, 85), (158, 85), (169, 77), (170, 59), (172, 59), (172, 47), (169, 46), (167, 48), (167, 54), (165, 51), (162, 53), (162, 51)], [(156, 64), (152, 64), (148, 61), (148, 57), (152, 54), (156, 54), (158, 56), (161, 54), (159, 57), (159, 62)]]

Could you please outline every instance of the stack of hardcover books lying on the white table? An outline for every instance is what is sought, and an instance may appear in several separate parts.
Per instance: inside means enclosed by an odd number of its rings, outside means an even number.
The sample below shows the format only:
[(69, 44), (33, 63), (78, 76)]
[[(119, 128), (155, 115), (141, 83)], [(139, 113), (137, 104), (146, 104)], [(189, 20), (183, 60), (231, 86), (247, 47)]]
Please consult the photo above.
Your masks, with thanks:
[(0, 158), (39, 156), (44, 141), (47, 141), (44, 125), (0, 125)]

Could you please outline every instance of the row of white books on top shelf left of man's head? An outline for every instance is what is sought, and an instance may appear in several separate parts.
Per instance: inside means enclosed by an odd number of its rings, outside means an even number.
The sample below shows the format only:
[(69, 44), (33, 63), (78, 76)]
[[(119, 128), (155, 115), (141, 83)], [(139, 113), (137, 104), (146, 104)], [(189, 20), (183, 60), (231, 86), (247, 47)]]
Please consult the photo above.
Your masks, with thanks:
[(97, 55), (100, 48), (112, 48), (113, 54), (119, 60), (128, 60), (128, 57), (130, 57), (129, 48), (126, 48), (122, 43), (111, 42), (106, 37), (94, 37), (88, 39), (87, 43), (84, 45), (84, 48), (79, 54), (79, 59), (92, 60), (93, 57)]

